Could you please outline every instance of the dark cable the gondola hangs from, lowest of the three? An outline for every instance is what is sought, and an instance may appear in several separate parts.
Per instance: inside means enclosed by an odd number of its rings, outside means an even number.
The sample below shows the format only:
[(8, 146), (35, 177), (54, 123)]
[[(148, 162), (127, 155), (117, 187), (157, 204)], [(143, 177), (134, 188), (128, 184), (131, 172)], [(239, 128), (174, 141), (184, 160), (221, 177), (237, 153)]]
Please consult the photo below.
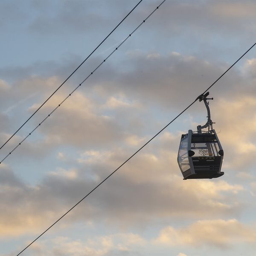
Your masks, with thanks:
[[(163, 1), (164, 2), (164, 1)], [(163, 3), (162, 2), (162, 3)], [(161, 3), (161, 4), (162, 4)], [(158, 6), (159, 7), (159, 6)], [(157, 8), (158, 9), (158, 8)], [(255, 46), (256, 45), (256, 43), (253, 45), (253, 46)], [(253, 48), (253, 46), (252, 47), (250, 47), (250, 49), (252, 49)], [(250, 50), (249, 49), (249, 50)], [(247, 52), (249, 51), (249, 50), (247, 50)], [(247, 53), (247, 52), (245, 52), (245, 54)], [(242, 56), (244, 56), (244, 54), (242, 55)], [(239, 58), (239, 60), (241, 59), (241, 57)], [(234, 64), (236, 64), (237, 63), (237, 61), (234, 63)], [(233, 67), (234, 66), (234, 64), (231, 66), (231, 67)], [(230, 67), (230, 68), (231, 68)], [(222, 76), (224, 76), (224, 74), (226, 74), (227, 73), (227, 71), (228, 70), (230, 70), (230, 68), (228, 68), (213, 84), (215, 84)], [(213, 85), (212, 84), (212, 85)], [(211, 87), (212, 87), (212, 85), (211, 85)], [(208, 88), (209, 89), (209, 88)], [(207, 89), (207, 90), (208, 90)], [(204, 93), (203, 93), (204, 94)], [(160, 131), (158, 131), (157, 132), (157, 134), (155, 134), (150, 140), (148, 140), (148, 142), (146, 142), (141, 148), (139, 148), (134, 154), (132, 154), (131, 155), (131, 157), (129, 157), (127, 160), (125, 160), (125, 162), (123, 162), (118, 168), (116, 168), (110, 175), (108, 175), (108, 177), (106, 177), (104, 180), (102, 180), (102, 182), (101, 183), (99, 183), (94, 189), (92, 189), (87, 195), (85, 195), (79, 202), (77, 202), (72, 208), (70, 208), (64, 215), (62, 215), (60, 218), (58, 218), (58, 220), (57, 221), (55, 221), (50, 227), (48, 227), (47, 228), (47, 230), (45, 230), (43, 233), (41, 233), (41, 235), (39, 235), (35, 240), (33, 240), (26, 248), (24, 248), (20, 253), (22, 253), (24, 250), (26, 250), (31, 244), (33, 244), (36, 240), (38, 240), (41, 236), (43, 236), (44, 235), (44, 233), (46, 233), (51, 227), (53, 227), (58, 221), (60, 221), (65, 215), (67, 215), (72, 209), (74, 209), (78, 204), (80, 204), (81, 203), (81, 201), (83, 201), (85, 198), (87, 198), (87, 196), (88, 195), (90, 195), (95, 189), (97, 189), (100, 185), (102, 185), (102, 183), (104, 183), (106, 180), (108, 180), (108, 178), (109, 177), (111, 177), (118, 169), (120, 169), (125, 163), (127, 163), (132, 157), (134, 157), (141, 149), (143, 149), (146, 145), (148, 145), (148, 143), (150, 143), (151, 142), (151, 140), (153, 140), (155, 137), (157, 137), (157, 135), (158, 134), (160, 134), (163, 130), (165, 130), (172, 122), (174, 122), (182, 113), (184, 113), (188, 108), (190, 108), (196, 101), (198, 100), (198, 98), (196, 98), (189, 106), (187, 106), (182, 112), (180, 112), (174, 119), (172, 119), (172, 121), (171, 122), (169, 122), (164, 128), (162, 128)], [(18, 253), (17, 254), (17, 256), (18, 255), (20, 255), (20, 253)]]

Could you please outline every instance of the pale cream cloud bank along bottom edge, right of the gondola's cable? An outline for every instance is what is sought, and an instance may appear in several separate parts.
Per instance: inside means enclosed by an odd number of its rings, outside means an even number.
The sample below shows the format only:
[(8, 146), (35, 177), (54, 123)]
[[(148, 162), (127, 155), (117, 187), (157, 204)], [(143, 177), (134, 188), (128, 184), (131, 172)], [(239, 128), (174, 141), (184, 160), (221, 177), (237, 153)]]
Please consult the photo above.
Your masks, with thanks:
[(87, 240), (72, 240), (58, 236), (52, 240), (43, 240), (33, 244), (29, 250), (31, 255), (36, 253), (39, 256), (65, 256), (67, 254), (70, 256), (123, 256), (134, 255), (134, 253), (136, 255), (136, 251), (145, 244), (145, 239), (134, 233), (116, 233)]

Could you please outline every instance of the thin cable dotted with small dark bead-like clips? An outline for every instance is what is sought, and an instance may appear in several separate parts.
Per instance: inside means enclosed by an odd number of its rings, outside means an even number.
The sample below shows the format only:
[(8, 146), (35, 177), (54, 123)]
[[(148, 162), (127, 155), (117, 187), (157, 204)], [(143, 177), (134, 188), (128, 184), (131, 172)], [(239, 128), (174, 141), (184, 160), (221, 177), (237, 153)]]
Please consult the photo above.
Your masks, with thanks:
[[(118, 50), (119, 47), (122, 46), (122, 44), (125, 43), (125, 41), (131, 37), (131, 35), (134, 34), (134, 32), (140, 28), (140, 26), (145, 23), (145, 21), (165, 2), (166, 0), (163, 0), (162, 3), (160, 3), (159, 6), (157, 6), (153, 12), (150, 13), (150, 15), (148, 15), (148, 17), (146, 17), (140, 24), (139, 26), (136, 27), (136, 29), (133, 30), (133, 32), (131, 32), (122, 42), (121, 44), (119, 44), (60, 104), (58, 104), (58, 106), (52, 110), (51, 113), (49, 113), (44, 120), (42, 120), (22, 141), (20, 141), (20, 143), (18, 143), (15, 148), (12, 149), (12, 151), (10, 151), (1, 161), (0, 163), (2, 163), (4, 160), (6, 160), (7, 157), (9, 157), (10, 154), (12, 154), (13, 151), (15, 151), (39, 126), (41, 126), (41, 124), (52, 115), (52, 113), (57, 110), (57, 108), (59, 108), (91, 75), (93, 75), (93, 73), (114, 53)], [(1, 149), (1, 148), (0, 148)]]

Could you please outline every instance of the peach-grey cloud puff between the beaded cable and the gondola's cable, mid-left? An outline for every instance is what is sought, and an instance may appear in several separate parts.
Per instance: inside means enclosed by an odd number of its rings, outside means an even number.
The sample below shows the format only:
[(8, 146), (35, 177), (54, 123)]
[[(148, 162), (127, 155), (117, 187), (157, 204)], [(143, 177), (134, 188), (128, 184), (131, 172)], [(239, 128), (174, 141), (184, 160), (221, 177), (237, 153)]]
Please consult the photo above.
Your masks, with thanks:
[[(50, 113), (65, 96), (56, 96), (45, 112)], [(38, 106), (33, 106), (33, 112)], [(46, 112), (47, 113), (47, 112)], [(47, 116), (47, 114), (45, 115)], [(116, 120), (97, 111), (97, 106), (81, 93), (75, 93), (52, 114), (40, 129), (47, 140), (69, 145), (101, 145), (122, 138), (122, 130)]]

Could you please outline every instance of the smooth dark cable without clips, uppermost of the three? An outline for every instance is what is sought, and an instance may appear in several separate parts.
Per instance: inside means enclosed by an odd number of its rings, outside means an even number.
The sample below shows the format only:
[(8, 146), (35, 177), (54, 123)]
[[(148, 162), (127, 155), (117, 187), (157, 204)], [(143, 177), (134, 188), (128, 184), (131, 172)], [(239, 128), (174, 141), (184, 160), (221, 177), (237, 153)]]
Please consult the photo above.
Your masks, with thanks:
[(26, 120), (26, 122), (23, 123), (23, 125), (20, 126), (20, 128), (17, 129), (17, 131), (15, 131), (14, 134), (12, 134), (12, 136), (6, 140), (6, 142), (0, 147), (3, 148), (4, 145), (6, 145), (6, 143), (9, 142), (9, 140), (12, 139), (13, 136), (15, 136), (15, 134), (17, 134), (18, 131), (20, 131), (20, 129), (32, 118), (32, 116), (35, 115), (35, 113), (37, 113), (39, 111), (39, 109), (41, 109), (44, 104), (62, 87), (63, 84), (66, 83), (66, 81), (68, 79), (70, 79), (71, 76), (73, 76), (73, 74), (79, 69), (79, 67), (81, 67), (82, 64), (84, 64), (85, 61), (87, 61), (87, 59), (93, 54), (93, 52), (96, 51), (96, 49), (98, 49), (105, 41), (106, 39), (117, 29), (117, 27), (119, 27), (119, 25), (131, 14), (131, 12), (133, 12), (133, 10), (142, 2), (143, 0), (140, 0), (139, 3), (137, 3), (136, 6), (134, 6), (133, 9), (131, 9), (131, 11), (118, 23), (118, 25), (105, 37), (105, 39), (87, 56), (87, 58), (70, 74), (70, 76), (68, 76), (68, 78), (47, 98), (47, 100), (29, 117), (29, 119)]

